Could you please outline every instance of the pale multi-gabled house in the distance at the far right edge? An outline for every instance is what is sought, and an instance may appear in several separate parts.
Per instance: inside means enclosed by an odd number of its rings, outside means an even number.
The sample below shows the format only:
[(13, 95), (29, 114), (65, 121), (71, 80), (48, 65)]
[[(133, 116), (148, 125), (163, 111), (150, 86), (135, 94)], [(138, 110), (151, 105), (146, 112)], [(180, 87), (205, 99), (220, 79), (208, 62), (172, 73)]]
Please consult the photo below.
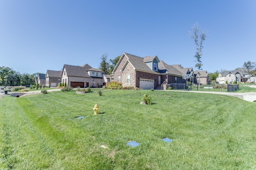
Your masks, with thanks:
[(226, 71), (219, 74), (216, 81), (220, 84), (240, 82), (256, 82), (256, 77), (241, 70)]

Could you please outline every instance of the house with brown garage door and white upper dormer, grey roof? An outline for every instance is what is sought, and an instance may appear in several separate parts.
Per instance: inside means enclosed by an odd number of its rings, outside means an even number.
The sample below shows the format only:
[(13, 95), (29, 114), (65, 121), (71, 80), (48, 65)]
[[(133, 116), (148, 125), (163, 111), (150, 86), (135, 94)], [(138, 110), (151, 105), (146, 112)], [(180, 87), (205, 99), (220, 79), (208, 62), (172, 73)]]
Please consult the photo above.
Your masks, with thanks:
[(72, 87), (99, 87), (104, 83), (103, 74), (106, 73), (97, 68), (92, 68), (88, 64), (82, 66), (64, 64), (61, 82)]

